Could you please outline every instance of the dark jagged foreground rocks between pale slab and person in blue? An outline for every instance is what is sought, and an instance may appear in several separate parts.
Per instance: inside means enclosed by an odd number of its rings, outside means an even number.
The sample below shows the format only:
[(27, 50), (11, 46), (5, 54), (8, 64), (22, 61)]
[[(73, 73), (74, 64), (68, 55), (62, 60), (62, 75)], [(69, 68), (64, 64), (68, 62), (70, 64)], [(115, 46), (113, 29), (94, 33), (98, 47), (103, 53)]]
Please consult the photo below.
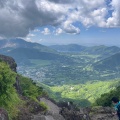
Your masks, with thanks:
[(79, 111), (62, 108), (61, 115), (65, 120), (118, 120), (110, 107), (81, 108)]

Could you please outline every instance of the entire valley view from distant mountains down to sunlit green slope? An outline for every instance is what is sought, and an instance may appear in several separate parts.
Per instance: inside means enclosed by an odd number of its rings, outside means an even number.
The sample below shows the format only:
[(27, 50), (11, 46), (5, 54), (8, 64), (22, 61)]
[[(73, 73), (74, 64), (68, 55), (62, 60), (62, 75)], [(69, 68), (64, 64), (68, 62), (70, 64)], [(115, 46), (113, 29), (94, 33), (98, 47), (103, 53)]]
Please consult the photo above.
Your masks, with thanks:
[(15, 44), (12, 49), (5, 45), (0, 51), (15, 59), (19, 74), (38, 85), (42, 83), (56, 101), (71, 100), (79, 106), (89, 106), (119, 86), (119, 47), (46, 47), (23, 40)]

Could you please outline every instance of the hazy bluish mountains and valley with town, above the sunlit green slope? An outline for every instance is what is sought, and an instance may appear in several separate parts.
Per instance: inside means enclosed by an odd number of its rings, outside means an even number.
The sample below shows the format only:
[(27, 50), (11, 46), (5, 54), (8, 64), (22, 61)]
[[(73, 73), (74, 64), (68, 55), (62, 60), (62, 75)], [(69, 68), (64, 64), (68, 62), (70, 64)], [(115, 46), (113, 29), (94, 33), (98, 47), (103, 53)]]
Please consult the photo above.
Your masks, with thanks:
[(43, 46), (11, 39), (0, 40), (0, 53), (16, 60), (18, 72), (48, 85), (120, 77), (120, 48), (116, 46)]

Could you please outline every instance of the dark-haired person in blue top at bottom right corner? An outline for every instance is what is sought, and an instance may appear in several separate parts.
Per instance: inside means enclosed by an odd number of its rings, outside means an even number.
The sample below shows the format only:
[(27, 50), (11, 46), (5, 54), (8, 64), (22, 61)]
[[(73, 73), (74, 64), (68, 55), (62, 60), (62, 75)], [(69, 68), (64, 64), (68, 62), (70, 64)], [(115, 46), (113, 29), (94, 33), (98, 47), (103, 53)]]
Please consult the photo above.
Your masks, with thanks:
[(112, 99), (111, 99), (111, 101), (112, 101), (112, 103), (113, 103), (113, 105), (114, 105), (114, 109), (115, 109), (115, 113), (114, 113), (114, 115), (117, 115), (118, 116), (118, 118), (119, 118), (119, 120), (120, 120), (120, 101), (119, 101), (119, 99), (117, 98), (117, 97), (113, 97)]

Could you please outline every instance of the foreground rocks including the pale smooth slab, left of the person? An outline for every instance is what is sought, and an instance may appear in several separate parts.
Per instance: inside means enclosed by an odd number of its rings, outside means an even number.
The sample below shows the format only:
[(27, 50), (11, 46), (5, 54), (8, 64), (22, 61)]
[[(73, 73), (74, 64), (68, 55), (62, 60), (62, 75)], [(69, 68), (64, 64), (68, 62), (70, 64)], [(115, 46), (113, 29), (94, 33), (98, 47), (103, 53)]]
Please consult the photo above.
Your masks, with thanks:
[(58, 107), (55, 103), (46, 98), (41, 98), (49, 109), (44, 114), (36, 114), (32, 120), (117, 120), (117, 116), (112, 113), (115, 112), (111, 107), (86, 107), (75, 109), (68, 107), (64, 103), (63, 107)]

